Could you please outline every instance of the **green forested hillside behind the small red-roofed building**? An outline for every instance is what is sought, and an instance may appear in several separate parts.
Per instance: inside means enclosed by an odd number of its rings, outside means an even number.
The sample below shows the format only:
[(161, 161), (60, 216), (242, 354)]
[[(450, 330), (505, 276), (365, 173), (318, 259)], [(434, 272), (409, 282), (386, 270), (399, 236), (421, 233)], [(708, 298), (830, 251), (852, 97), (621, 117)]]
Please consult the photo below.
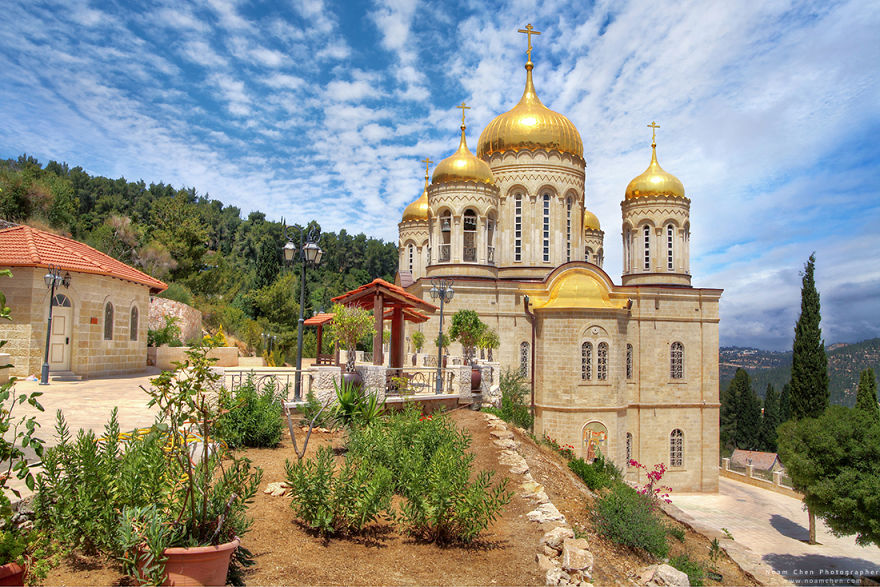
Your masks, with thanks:
[[(277, 337), (283, 355), (296, 348), (300, 265), (284, 267), (282, 225), (262, 212), (243, 218), (195, 188), (92, 176), (21, 155), (0, 160), (0, 219), (70, 236), (162, 279), (165, 297), (195, 306), (209, 327), (222, 325), (258, 351), (264, 333)], [(320, 229), (295, 220), (297, 235)], [(306, 271), (306, 316), (377, 277), (394, 279), (394, 243), (341, 230), (322, 233), (319, 244), (321, 265)], [(308, 330), (306, 356), (315, 346)]]

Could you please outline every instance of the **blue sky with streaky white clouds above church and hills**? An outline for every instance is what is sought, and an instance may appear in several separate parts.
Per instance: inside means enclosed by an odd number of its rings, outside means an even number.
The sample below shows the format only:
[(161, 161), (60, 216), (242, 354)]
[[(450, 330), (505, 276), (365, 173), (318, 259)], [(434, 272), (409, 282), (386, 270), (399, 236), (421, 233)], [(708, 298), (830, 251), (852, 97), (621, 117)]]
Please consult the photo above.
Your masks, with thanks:
[[(538, 4), (539, 6), (536, 6)], [(721, 342), (790, 348), (817, 252), (826, 341), (880, 336), (880, 3), (5, 2), (0, 157), (194, 186), (244, 214), (396, 240), (426, 156), (524, 83), (584, 139), (619, 280), (620, 200), (650, 158), (691, 198)]]

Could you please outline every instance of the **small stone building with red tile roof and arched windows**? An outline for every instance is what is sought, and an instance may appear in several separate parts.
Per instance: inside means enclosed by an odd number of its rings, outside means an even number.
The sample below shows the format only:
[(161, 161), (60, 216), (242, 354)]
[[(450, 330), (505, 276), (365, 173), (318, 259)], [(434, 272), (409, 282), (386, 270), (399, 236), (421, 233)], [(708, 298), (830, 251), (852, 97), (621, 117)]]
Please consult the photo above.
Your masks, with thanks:
[(103, 377), (142, 371), (147, 364), (150, 296), (167, 286), (92, 247), (43, 230), (0, 228), (0, 291), (12, 322), (0, 324), (12, 374), (39, 376), (46, 345), (50, 290), (48, 267), (69, 275), (57, 286), (49, 339), (50, 373)]

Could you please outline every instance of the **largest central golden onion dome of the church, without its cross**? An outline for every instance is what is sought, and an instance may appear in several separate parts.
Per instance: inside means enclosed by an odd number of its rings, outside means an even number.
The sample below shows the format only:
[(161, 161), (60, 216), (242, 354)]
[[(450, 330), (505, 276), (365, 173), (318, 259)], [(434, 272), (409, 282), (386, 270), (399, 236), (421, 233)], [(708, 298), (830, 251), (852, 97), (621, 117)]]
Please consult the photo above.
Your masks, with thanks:
[(577, 128), (562, 114), (553, 112), (538, 98), (532, 82), (531, 60), (526, 63), (526, 89), (519, 104), (496, 116), (483, 129), (477, 156), (488, 157), (504, 151), (555, 149), (584, 157), (584, 143)]

